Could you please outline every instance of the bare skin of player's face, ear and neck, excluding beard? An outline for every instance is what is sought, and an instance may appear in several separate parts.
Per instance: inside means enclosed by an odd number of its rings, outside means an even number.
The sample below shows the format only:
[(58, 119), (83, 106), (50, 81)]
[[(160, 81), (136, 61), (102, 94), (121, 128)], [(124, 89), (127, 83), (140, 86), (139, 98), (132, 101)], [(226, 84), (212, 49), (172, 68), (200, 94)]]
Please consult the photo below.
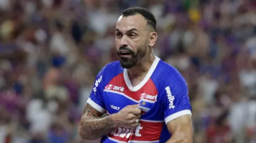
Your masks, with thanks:
[[(142, 51), (144, 57), (128, 69), (132, 85), (135, 86), (146, 75), (155, 59), (152, 47), (156, 44), (157, 33), (142, 15), (119, 18), (115, 29), (115, 47), (119, 51), (121, 46), (127, 45), (134, 53)], [(120, 58), (120, 56), (119, 56)]]

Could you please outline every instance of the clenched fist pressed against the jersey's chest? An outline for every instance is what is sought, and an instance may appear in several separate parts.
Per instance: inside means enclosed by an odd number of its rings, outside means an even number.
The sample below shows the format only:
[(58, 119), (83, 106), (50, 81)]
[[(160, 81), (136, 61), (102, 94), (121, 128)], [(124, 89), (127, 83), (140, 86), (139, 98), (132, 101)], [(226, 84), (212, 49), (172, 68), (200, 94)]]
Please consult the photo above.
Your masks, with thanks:
[(129, 105), (124, 107), (118, 113), (112, 114), (111, 118), (115, 127), (134, 128), (139, 125), (139, 118), (141, 118), (141, 110), (137, 105)]

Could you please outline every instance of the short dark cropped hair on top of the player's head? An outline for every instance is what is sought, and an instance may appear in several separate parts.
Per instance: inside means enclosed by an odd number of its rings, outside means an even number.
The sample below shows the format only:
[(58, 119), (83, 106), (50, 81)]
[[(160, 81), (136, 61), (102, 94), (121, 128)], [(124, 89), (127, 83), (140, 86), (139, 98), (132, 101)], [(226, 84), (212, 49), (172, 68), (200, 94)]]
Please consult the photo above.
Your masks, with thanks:
[(147, 20), (147, 24), (152, 26), (156, 31), (156, 18), (148, 9), (143, 7), (131, 7), (122, 11), (123, 17), (134, 16), (136, 14), (142, 15), (145, 20)]

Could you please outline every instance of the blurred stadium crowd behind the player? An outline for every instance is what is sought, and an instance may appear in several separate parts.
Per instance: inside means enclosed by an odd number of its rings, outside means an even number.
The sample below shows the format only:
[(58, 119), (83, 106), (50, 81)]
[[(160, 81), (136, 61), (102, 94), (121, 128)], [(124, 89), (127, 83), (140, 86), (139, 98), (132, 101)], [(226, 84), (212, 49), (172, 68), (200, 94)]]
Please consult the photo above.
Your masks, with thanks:
[(80, 115), (131, 6), (153, 12), (155, 55), (188, 82), (194, 142), (256, 142), (253, 0), (0, 0), (0, 142), (86, 142)]

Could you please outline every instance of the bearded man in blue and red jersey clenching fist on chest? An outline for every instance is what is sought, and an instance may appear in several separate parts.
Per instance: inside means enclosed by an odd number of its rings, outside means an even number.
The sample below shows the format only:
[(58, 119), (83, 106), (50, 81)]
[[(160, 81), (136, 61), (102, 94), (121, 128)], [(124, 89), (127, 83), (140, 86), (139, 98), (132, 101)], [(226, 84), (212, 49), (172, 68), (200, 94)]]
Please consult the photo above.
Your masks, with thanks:
[[(115, 29), (120, 61), (97, 75), (79, 125), (101, 142), (192, 142), (191, 106), (182, 75), (153, 53), (156, 19), (147, 9), (122, 11)], [(102, 117), (104, 113), (107, 116)]]

